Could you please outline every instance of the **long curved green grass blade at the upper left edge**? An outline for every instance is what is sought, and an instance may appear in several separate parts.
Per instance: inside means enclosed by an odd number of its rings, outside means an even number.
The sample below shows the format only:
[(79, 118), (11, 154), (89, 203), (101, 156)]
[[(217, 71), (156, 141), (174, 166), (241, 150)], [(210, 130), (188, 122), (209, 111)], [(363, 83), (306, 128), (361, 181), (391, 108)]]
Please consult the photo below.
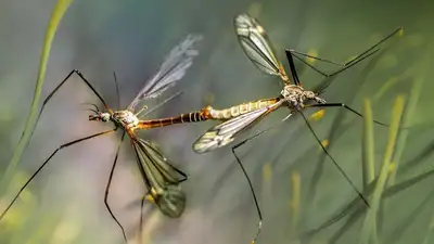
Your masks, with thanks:
[(28, 141), (31, 137), (31, 131), (35, 129), (35, 123), (38, 114), (39, 100), (42, 91), (43, 80), (46, 78), (47, 63), (50, 55), (51, 44), (54, 39), (55, 31), (58, 29), (59, 23), (61, 22), (63, 15), (65, 14), (67, 8), (71, 5), (73, 0), (58, 0), (54, 10), (51, 14), (51, 18), (47, 28), (42, 53), (39, 63), (38, 78), (36, 80), (34, 100), (31, 101), (30, 112), (27, 116), (27, 121), (24, 127), (23, 133), (21, 136), (20, 142), (15, 147), (12, 159), (8, 165), (8, 168), (4, 172), (2, 184), (5, 185), (5, 182), (9, 181), (13, 170), (18, 164), (25, 147), (28, 144)]

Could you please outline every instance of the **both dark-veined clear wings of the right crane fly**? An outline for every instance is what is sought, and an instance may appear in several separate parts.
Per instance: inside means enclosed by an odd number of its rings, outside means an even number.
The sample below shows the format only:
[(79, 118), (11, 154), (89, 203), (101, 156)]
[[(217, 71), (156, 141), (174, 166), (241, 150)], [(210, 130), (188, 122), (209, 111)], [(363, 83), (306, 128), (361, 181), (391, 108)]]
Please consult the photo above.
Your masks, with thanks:
[[(289, 82), (283, 66), (277, 59), (268, 35), (259, 22), (247, 14), (240, 14), (234, 18), (234, 27), (239, 42), (252, 63), (259, 70), (280, 76), (284, 82)], [(250, 129), (280, 105), (278, 102), (254, 110), (210, 128), (193, 143), (193, 151), (206, 153), (229, 144), (238, 134)]]

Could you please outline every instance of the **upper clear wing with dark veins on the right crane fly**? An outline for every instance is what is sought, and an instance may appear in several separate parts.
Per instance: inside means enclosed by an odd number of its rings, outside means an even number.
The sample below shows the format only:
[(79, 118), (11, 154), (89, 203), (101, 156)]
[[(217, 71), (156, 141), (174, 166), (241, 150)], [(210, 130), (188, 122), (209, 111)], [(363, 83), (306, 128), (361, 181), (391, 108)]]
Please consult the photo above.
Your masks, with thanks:
[(241, 47), (253, 64), (267, 74), (286, 80), (283, 66), (277, 59), (271, 41), (259, 22), (247, 14), (240, 14), (234, 18), (234, 26)]

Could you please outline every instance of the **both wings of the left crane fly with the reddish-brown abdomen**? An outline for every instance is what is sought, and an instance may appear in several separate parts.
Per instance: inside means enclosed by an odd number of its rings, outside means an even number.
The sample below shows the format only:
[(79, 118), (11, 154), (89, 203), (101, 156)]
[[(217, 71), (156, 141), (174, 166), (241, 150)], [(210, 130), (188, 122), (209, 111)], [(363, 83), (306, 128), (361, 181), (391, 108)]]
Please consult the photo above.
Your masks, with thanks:
[[(140, 102), (157, 98), (180, 80), (192, 65), (193, 59), (199, 55), (195, 44), (201, 39), (201, 35), (189, 35), (176, 46), (165, 57), (157, 73), (132, 100), (128, 110), (135, 113)], [(153, 201), (164, 215), (178, 218), (186, 207), (186, 194), (179, 187), (179, 183), (187, 179), (186, 174), (174, 167), (155, 144), (140, 138), (131, 138), (131, 144)]]

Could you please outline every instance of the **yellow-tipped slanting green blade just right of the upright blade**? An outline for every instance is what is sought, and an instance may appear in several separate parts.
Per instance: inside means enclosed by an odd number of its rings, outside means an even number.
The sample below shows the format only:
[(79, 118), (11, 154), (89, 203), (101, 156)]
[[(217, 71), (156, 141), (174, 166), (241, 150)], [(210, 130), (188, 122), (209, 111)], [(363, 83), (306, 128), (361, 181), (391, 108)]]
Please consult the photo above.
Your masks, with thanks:
[(395, 106), (393, 110), (391, 127), (388, 130), (388, 140), (386, 151), (384, 153), (383, 164), (380, 169), (380, 174), (376, 180), (375, 189), (373, 190), (371, 206), (366, 215), (366, 218), (362, 223), (359, 244), (369, 244), (370, 240), (372, 240), (373, 227), (375, 227), (376, 222), (376, 213), (380, 207), (381, 196), (384, 191), (384, 187), (386, 184), (387, 176), (388, 176), (388, 166), (392, 160), (392, 156), (394, 154), (396, 139), (398, 134), (398, 129), (400, 125), (400, 119), (404, 110), (404, 97), (398, 95), (395, 101)]

